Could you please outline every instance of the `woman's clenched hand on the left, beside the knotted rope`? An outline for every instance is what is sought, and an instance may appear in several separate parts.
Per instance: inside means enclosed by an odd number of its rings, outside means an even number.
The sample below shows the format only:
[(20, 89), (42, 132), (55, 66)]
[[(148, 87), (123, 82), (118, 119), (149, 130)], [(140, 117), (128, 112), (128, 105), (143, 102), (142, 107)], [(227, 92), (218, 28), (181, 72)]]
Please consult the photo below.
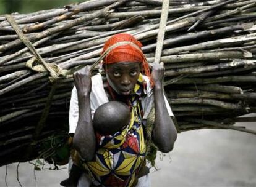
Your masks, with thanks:
[(73, 74), (73, 78), (75, 81), (75, 87), (77, 88), (77, 94), (90, 94), (92, 89), (92, 81), (91, 81), (91, 67), (85, 66), (84, 68), (76, 71)]

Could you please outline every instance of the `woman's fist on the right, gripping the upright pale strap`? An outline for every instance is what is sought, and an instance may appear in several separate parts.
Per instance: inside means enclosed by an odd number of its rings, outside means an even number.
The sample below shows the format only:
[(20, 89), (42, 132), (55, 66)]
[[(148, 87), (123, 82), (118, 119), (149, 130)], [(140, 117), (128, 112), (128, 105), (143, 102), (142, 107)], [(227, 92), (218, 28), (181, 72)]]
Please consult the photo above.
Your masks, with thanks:
[(152, 68), (152, 79), (155, 82), (156, 87), (163, 87), (163, 79), (164, 79), (164, 63), (150, 63)]

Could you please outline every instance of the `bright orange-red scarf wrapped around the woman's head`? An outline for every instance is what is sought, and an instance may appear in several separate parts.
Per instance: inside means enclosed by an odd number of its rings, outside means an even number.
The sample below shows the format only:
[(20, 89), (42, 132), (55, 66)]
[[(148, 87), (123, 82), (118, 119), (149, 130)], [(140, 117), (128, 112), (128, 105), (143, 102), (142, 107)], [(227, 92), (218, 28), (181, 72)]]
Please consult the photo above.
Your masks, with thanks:
[[(111, 38), (109, 38), (108, 41), (105, 42), (101, 54), (103, 54), (104, 52), (106, 52), (106, 50), (108, 50), (113, 45), (118, 44), (119, 42), (127, 43), (121, 46), (114, 47), (112, 50), (110, 50), (106, 57), (103, 58), (103, 64), (111, 64), (117, 62), (142, 63), (142, 73), (150, 78), (151, 85), (153, 86), (147, 59), (141, 50), (142, 43), (137, 41), (134, 36), (126, 33), (120, 33), (111, 36)], [(129, 44), (129, 42), (132, 44)]]

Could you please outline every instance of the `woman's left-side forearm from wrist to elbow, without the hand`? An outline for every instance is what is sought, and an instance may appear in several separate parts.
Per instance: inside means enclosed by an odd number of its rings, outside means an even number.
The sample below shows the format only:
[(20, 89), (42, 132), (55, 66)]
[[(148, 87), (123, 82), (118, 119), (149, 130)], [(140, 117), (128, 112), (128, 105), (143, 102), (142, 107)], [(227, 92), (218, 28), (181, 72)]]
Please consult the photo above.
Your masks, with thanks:
[(96, 138), (90, 109), (90, 94), (78, 95), (79, 119), (73, 138), (73, 146), (85, 161), (95, 156)]

